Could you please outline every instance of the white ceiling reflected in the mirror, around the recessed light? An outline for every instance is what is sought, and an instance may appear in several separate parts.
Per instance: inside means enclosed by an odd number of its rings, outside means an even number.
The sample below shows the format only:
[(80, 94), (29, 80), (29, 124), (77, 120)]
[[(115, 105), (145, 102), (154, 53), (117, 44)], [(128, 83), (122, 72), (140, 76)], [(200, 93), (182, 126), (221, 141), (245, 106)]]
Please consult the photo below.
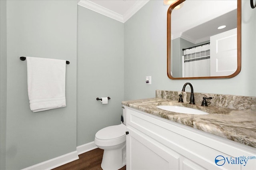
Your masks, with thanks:
[[(172, 10), (172, 39), (181, 37), (200, 43), (210, 40), (210, 36), (231, 30), (236, 26), (236, 12), (232, 12), (236, 8), (234, 0), (186, 0), (182, 8)], [(235, 14), (232, 19), (230, 12)], [(218, 30), (222, 25), (227, 27)]]

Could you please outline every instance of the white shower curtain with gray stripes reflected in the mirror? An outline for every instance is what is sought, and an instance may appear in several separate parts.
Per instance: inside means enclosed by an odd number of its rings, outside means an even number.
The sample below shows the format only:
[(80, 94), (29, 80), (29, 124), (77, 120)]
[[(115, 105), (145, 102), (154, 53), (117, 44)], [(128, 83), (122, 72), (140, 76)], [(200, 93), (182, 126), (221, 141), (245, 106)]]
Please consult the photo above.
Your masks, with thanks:
[(182, 56), (183, 77), (210, 76), (210, 44), (186, 49)]

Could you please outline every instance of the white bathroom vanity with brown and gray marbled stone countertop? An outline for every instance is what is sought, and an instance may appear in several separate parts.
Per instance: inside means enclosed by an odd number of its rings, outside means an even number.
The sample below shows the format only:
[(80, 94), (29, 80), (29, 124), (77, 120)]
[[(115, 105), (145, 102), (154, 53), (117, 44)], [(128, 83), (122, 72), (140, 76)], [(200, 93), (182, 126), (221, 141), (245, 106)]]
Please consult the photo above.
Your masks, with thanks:
[[(178, 103), (178, 93), (156, 91), (156, 98), (122, 102), (128, 131), (126, 169), (256, 169), (255, 97), (237, 106), (240, 109), (230, 109), (234, 106), (223, 101), (230, 96), (218, 101), (219, 95), (211, 94), (212, 106), (201, 107), (198, 101), (187, 104), (186, 93), (184, 103)], [(198, 93), (195, 98), (205, 95), (209, 94)], [(231, 98), (229, 103), (234, 104), (237, 98)], [(175, 113), (158, 105), (193, 107), (209, 114)]]

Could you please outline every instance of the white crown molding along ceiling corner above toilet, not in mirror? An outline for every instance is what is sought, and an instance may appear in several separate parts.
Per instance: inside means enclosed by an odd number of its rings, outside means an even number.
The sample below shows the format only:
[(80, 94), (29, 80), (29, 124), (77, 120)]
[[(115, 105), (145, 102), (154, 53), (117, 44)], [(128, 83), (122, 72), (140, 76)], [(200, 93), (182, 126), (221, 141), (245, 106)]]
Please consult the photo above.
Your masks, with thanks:
[(104, 16), (107, 16), (109, 18), (112, 18), (114, 20), (117, 20), (119, 22), (126, 22), (129, 18), (131, 18), (140, 8), (142, 8), (146, 3), (148, 3), (149, 0), (140, 0), (137, 1), (125, 14), (124, 16), (109, 10), (107, 8), (104, 8), (98, 4), (95, 4), (94, 2), (90, 0), (78, 0), (78, 5), (87, 8), (89, 10), (92, 10), (94, 12), (98, 12)]

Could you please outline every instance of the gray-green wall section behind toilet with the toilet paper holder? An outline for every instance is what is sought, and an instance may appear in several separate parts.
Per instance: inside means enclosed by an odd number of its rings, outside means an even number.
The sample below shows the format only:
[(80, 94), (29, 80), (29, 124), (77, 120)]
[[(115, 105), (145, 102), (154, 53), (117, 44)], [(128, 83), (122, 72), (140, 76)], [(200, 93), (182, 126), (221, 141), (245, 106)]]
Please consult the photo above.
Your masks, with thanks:
[[(78, 6), (77, 146), (120, 124), (124, 100), (124, 24)], [(110, 97), (108, 104), (97, 101)]]

